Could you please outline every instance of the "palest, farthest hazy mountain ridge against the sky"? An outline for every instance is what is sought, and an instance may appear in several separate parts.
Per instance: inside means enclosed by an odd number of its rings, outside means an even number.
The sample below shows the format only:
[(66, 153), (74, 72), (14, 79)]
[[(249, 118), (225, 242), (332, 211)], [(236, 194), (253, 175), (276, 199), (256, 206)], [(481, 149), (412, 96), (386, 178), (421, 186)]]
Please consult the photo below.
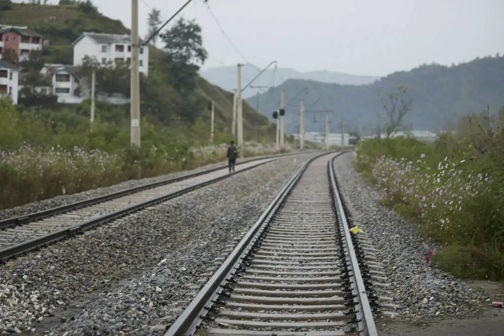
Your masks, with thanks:
[[(265, 71), (253, 84), (253, 86), (275, 86), (287, 81), (289, 79), (304, 79), (312, 80), (323, 83), (337, 83), (348, 85), (363, 85), (370, 84), (380, 79), (374, 76), (360, 76), (349, 75), (343, 73), (333, 73), (329, 71), (314, 71), (301, 73), (289, 68), (273, 68), (274, 65)], [(259, 69), (253, 64), (245, 64), (241, 68), (241, 77), (245, 86), (249, 81), (253, 80), (262, 69)], [(220, 68), (211, 68), (206, 71), (200, 72), (200, 76), (208, 82), (220, 86), (224, 90), (232, 91), (236, 89), (237, 73), (236, 66), (221, 66)], [(256, 95), (257, 92), (264, 92), (264, 90), (256, 88), (248, 88), (243, 92), (243, 97), (251, 97)]]

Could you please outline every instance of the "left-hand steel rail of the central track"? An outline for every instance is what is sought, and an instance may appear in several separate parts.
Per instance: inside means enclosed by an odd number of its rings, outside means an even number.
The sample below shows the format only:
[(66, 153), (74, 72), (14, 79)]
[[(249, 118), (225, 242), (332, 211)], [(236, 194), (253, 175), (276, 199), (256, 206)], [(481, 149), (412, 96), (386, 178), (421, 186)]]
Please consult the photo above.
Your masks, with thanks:
[[(330, 153), (330, 152), (329, 152)], [(165, 332), (164, 336), (182, 336), (193, 334), (197, 327), (202, 322), (208, 311), (211, 309), (213, 302), (219, 297), (219, 291), (224, 288), (224, 285), (229, 281), (239, 264), (244, 257), (249, 253), (251, 247), (255, 244), (258, 237), (264, 232), (266, 224), (270, 222), (282, 203), (286, 200), (289, 192), (294, 188), (300, 180), (309, 164), (317, 158), (327, 155), (325, 152), (316, 157), (307, 160), (294, 176), (280, 190), (277, 196), (270, 203), (268, 208), (259, 217), (256, 223), (241, 239), (234, 250), (229, 254), (226, 260), (213, 274), (205, 286), (198, 292), (194, 299), (189, 303), (187, 308), (173, 322), (170, 328)]]

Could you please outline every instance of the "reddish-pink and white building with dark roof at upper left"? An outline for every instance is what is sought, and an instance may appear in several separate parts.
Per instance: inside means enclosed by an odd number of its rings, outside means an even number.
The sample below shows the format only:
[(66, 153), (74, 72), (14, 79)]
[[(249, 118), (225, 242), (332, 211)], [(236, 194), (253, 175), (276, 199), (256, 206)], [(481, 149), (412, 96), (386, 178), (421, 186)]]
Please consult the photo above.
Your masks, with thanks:
[(10, 49), (18, 55), (19, 60), (26, 60), (33, 50), (42, 50), (42, 35), (28, 29), (0, 25), (0, 54)]

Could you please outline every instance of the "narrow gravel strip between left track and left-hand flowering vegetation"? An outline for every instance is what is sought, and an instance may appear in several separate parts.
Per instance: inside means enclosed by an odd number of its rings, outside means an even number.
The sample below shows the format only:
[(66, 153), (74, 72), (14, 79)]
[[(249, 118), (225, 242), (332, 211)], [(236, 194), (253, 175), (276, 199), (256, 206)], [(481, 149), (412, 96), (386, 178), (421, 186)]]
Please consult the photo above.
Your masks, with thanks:
[[(294, 153), (294, 151), (292, 153)], [(238, 159), (237, 161), (238, 161), (238, 163), (247, 162), (250, 160), (265, 158), (268, 156), (270, 156), (270, 155), (262, 155), (262, 156)], [(142, 185), (149, 184), (149, 183), (154, 183), (154, 182), (159, 182), (159, 181), (163, 181), (163, 180), (170, 179), (170, 178), (194, 174), (194, 173), (204, 171), (207, 169), (224, 167), (226, 165), (227, 165), (227, 162), (218, 162), (218, 163), (213, 163), (210, 165), (202, 166), (202, 167), (199, 167), (199, 168), (196, 168), (193, 170), (184, 170), (184, 171), (160, 175), (160, 176), (156, 176), (156, 177), (141, 178), (141, 179), (137, 179), (137, 180), (129, 180), (129, 181), (125, 181), (125, 182), (111, 185), (108, 187), (87, 190), (87, 191), (83, 191), (83, 192), (79, 192), (79, 193), (75, 193), (75, 194), (71, 194), (71, 195), (56, 196), (53, 198), (44, 199), (41, 201), (25, 204), (23, 206), (11, 208), (11, 209), (2, 210), (2, 208), (0, 207), (0, 220), (11, 218), (11, 217), (16, 217), (16, 216), (23, 216), (23, 215), (43, 211), (43, 210), (50, 209), (50, 208), (56, 208), (56, 207), (64, 206), (67, 204), (75, 203), (77, 201), (106, 195), (106, 194), (109, 194), (112, 192), (119, 192), (119, 191), (123, 191), (123, 190), (130, 189), (130, 188), (137, 187), (137, 186), (142, 186)]]

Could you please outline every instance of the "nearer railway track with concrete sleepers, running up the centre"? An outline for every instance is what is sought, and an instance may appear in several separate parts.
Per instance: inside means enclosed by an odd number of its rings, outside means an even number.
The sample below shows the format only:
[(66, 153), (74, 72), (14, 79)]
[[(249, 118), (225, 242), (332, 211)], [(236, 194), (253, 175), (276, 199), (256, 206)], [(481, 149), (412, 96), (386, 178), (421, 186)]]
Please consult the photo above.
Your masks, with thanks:
[(334, 158), (299, 169), (165, 336), (377, 335), (368, 254), (349, 232)]

